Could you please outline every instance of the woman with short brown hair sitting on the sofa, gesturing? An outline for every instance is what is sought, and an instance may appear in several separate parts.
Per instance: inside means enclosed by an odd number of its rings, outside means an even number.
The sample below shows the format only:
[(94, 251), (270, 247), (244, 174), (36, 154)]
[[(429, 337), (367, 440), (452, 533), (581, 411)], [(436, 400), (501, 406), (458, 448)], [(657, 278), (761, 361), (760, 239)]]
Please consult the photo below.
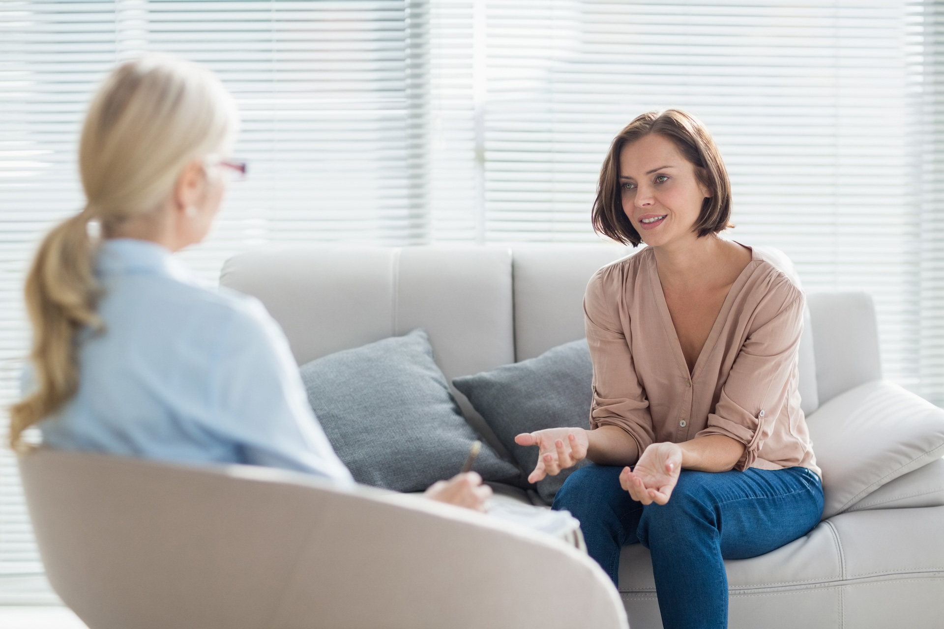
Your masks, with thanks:
[(648, 246), (584, 297), (590, 430), (519, 435), (535, 482), (586, 457), (554, 508), (617, 582), (620, 548), (652, 556), (666, 629), (727, 626), (725, 558), (768, 553), (822, 513), (800, 408), (804, 297), (789, 261), (725, 240), (731, 185), (711, 135), (678, 109), (637, 117), (600, 172), (593, 223)]

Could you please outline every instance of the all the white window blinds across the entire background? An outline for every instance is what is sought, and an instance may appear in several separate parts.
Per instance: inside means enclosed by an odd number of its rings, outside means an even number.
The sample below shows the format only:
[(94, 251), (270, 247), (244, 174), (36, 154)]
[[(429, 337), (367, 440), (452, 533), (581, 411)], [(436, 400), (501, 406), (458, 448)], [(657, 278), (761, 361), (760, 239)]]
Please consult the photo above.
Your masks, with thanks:
[[(208, 279), (263, 243), (596, 240), (609, 142), (681, 107), (727, 162), (733, 238), (807, 290), (868, 290), (886, 375), (944, 402), (938, 20), (930, 0), (2, 2), (0, 402), (25, 265), (81, 205), (81, 117), (146, 50), (206, 64), (243, 113), (249, 178), (184, 254)], [(0, 452), (0, 604), (55, 600)]]

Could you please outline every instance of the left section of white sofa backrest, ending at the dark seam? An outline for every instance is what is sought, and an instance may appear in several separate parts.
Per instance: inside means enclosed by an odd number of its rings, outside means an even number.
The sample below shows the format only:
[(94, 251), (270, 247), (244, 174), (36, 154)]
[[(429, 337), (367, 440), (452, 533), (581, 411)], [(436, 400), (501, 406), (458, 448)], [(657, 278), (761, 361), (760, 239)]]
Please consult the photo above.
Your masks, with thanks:
[(267, 248), (230, 258), (220, 283), (261, 300), (298, 364), (416, 327), (449, 380), (514, 362), (507, 248)]

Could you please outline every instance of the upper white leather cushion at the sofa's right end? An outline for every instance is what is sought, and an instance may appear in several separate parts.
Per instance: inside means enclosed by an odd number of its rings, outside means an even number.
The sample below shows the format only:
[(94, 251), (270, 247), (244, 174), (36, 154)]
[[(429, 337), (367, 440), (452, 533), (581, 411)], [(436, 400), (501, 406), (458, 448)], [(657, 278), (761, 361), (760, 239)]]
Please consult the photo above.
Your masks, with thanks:
[(807, 424), (823, 472), (823, 519), (944, 455), (944, 410), (885, 380), (841, 393)]

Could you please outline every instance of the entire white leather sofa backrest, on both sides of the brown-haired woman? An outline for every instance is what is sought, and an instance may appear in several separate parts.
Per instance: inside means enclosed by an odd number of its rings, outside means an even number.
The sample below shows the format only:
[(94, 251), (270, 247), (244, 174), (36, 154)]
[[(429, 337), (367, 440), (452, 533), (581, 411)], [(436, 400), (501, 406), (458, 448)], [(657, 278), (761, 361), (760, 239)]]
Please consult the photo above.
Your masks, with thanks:
[[(229, 259), (220, 282), (262, 301), (299, 364), (425, 327), (451, 380), (582, 339), (587, 281), (630, 253), (604, 244), (266, 248)], [(807, 414), (881, 377), (868, 295), (808, 301), (800, 348)]]

